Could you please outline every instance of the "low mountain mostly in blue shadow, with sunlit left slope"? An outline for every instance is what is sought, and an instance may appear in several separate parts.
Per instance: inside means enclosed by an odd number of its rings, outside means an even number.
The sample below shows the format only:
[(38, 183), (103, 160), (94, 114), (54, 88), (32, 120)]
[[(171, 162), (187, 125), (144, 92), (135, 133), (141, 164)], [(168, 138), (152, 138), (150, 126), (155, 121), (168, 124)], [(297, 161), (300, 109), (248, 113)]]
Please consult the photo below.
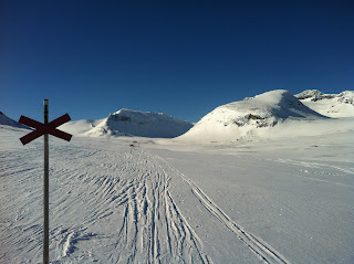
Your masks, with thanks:
[(183, 135), (192, 124), (164, 113), (121, 109), (98, 120), (79, 120), (62, 125), (64, 131), (90, 137), (139, 136), (173, 138)]

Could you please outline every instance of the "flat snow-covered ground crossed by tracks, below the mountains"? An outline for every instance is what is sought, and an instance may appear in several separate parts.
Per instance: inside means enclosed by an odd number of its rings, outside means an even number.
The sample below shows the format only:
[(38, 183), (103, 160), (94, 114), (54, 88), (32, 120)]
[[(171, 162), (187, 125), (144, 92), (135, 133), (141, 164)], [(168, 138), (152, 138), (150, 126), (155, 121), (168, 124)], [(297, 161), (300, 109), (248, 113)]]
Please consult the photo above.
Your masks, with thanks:
[[(52, 263), (354, 263), (354, 128), (316, 122), (331, 129), (50, 137)], [(41, 262), (43, 144), (27, 133), (0, 126), (0, 263)]]

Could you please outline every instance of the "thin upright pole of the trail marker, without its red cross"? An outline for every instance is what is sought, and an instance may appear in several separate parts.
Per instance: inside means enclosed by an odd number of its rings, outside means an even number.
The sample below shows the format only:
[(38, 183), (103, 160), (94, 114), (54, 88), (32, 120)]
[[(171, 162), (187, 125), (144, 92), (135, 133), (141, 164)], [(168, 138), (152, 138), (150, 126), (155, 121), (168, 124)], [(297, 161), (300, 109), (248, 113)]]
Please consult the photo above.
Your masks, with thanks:
[[(44, 99), (44, 124), (48, 124), (48, 99)], [(43, 181), (43, 264), (49, 264), (49, 142), (44, 134), (44, 181)]]

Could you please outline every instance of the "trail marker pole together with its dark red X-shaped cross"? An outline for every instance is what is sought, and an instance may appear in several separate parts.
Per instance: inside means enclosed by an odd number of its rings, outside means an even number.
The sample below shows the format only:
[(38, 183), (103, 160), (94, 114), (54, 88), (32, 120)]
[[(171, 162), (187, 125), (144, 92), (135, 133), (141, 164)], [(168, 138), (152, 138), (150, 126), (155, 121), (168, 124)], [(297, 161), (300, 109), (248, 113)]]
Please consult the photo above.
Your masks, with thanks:
[(62, 138), (66, 141), (70, 141), (72, 135), (61, 131), (56, 129), (58, 126), (71, 120), (67, 114), (48, 123), (48, 99), (43, 101), (44, 105), (44, 123), (40, 123), (28, 118), (25, 116), (21, 116), (19, 123), (35, 128), (34, 131), (23, 136), (20, 138), (23, 145), (34, 140), (35, 138), (44, 135), (44, 177), (43, 177), (43, 263), (49, 264), (49, 142), (48, 136), (49, 134)]

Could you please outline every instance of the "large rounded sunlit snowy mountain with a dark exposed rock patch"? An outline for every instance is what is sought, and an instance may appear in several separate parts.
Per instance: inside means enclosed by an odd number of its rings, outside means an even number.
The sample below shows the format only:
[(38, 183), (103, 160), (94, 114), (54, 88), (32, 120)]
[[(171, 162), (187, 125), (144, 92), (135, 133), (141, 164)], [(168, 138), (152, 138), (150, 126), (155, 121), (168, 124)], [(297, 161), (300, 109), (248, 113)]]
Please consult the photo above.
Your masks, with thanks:
[[(285, 89), (271, 91), (222, 105), (202, 117), (179, 139), (222, 141), (272, 134), (285, 120), (316, 120), (326, 117), (303, 105)], [(268, 136), (266, 135), (266, 136)]]

